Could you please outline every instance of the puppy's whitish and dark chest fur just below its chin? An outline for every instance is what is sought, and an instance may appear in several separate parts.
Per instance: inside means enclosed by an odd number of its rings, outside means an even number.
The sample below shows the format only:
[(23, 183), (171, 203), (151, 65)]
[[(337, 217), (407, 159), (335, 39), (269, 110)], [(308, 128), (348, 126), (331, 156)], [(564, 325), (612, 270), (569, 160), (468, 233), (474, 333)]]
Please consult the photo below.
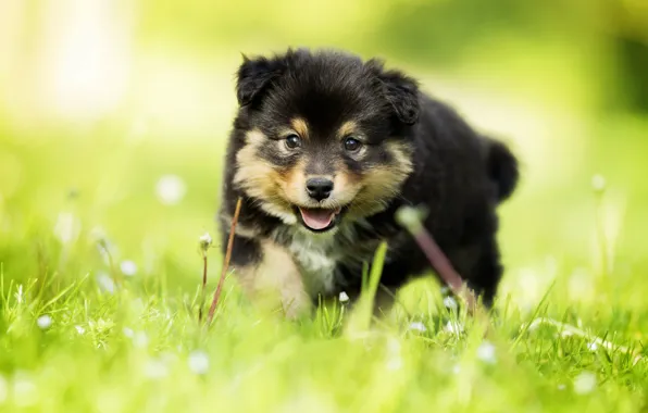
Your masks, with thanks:
[(377, 247), (377, 241), (361, 240), (351, 228), (331, 235), (283, 230), (275, 238), (292, 255), (312, 297), (336, 290), (340, 265), (361, 272), (363, 261), (371, 261)]

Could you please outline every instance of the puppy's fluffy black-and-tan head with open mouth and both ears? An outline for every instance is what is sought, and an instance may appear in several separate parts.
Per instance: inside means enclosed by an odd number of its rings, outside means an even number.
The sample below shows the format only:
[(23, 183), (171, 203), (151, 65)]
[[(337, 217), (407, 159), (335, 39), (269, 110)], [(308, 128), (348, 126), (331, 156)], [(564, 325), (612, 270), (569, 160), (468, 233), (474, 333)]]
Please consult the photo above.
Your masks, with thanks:
[(384, 210), (412, 171), (416, 83), (381, 62), (289, 50), (244, 58), (235, 185), (289, 225), (327, 231)]

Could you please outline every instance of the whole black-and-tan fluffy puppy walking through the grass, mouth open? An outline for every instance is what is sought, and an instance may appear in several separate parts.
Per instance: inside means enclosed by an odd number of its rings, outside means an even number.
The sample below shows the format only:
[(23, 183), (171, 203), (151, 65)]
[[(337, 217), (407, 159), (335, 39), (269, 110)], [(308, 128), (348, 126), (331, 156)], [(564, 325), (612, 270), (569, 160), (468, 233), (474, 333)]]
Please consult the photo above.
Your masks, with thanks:
[(273, 297), (289, 317), (342, 291), (353, 302), (386, 241), (375, 305), (388, 310), (433, 270), (395, 218), (419, 205), (453, 267), (493, 304), (503, 271), (496, 209), (519, 180), (507, 145), (413, 77), (340, 50), (244, 55), (236, 96), (217, 217), (225, 253), (241, 199), (230, 265), (252, 301)]

